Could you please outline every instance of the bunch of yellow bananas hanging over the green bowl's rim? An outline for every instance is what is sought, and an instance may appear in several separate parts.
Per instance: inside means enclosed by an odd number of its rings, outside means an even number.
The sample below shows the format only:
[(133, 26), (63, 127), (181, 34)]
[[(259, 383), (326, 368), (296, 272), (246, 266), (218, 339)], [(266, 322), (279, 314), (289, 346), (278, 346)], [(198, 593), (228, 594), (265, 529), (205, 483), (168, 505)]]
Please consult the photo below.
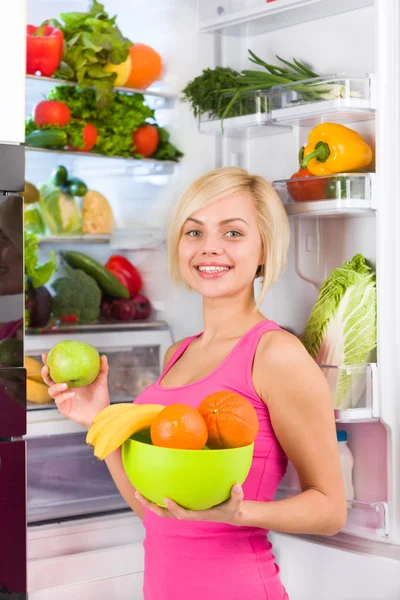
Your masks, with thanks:
[(86, 443), (104, 460), (132, 435), (149, 430), (163, 408), (161, 404), (110, 404), (93, 419)]

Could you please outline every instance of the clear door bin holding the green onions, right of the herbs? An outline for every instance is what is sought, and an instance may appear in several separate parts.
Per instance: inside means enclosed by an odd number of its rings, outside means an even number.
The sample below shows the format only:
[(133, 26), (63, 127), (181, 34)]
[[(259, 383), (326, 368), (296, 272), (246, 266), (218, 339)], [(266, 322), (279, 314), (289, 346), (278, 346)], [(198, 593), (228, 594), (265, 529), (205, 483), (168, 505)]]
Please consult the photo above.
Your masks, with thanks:
[(313, 127), (322, 121), (366, 121), (375, 118), (375, 77), (339, 74), (275, 86), (269, 102), (271, 121), (276, 125)]

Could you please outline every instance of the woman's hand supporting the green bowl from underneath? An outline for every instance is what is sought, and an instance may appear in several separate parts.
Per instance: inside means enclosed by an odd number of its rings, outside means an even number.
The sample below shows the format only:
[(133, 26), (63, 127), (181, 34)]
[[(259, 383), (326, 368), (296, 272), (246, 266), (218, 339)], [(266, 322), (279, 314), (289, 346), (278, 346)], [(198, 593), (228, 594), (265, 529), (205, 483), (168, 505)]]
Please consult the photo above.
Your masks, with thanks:
[(165, 498), (164, 500), (167, 508), (161, 508), (157, 504), (153, 504), (153, 502), (144, 498), (139, 492), (136, 492), (136, 498), (145, 508), (164, 519), (212, 521), (213, 523), (239, 525), (243, 505), (243, 490), (239, 483), (235, 483), (231, 490), (231, 497), (229, 500), (208, 510), (186, 510), (169, 498)]

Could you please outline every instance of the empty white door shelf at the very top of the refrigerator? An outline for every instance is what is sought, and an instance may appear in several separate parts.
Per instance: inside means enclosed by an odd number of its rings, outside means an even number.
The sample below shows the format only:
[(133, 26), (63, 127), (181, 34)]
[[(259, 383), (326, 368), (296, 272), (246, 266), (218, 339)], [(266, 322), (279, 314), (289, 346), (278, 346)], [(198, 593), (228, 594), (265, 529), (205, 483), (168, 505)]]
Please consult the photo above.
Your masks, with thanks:
[(373, 0), (202, 0), (198, 2), (200, 33), (257, 35), (311, 20), (372, 6)]

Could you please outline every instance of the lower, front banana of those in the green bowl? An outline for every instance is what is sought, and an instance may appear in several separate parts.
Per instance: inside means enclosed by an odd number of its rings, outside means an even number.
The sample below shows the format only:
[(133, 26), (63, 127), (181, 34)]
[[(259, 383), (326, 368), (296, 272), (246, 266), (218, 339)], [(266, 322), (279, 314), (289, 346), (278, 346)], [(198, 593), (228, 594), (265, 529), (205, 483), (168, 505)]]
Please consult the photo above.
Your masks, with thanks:
[(100, 460), (104, 460), (117, 448), (131, 437), (134, 433), (142, 429), (149, 429), (152, 422), (159, 412), (165, 406), (161, 404), (141, 404), (137, 405), (132, 416), (119, 414), (111, 422), (107, 421), (107, 427), (104, 427), (97, 438), (94, 455)]

